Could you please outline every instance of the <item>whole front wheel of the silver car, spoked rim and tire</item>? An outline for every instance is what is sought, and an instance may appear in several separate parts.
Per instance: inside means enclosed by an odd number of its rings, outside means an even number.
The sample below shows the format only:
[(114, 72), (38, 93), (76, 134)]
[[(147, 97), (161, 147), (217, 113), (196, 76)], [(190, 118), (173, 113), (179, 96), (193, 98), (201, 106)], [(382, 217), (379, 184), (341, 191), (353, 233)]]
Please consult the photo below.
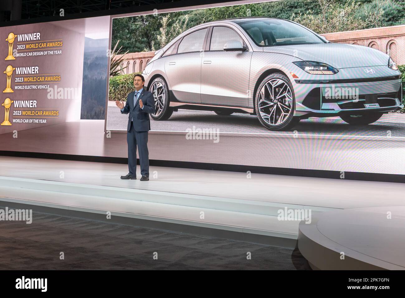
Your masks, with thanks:
[(263, 79), (255, 96), (260, 123), (272, 131), (288, 130), (300, 119), (294, 117), (295, 96), (288, 77), (272, 73)]

